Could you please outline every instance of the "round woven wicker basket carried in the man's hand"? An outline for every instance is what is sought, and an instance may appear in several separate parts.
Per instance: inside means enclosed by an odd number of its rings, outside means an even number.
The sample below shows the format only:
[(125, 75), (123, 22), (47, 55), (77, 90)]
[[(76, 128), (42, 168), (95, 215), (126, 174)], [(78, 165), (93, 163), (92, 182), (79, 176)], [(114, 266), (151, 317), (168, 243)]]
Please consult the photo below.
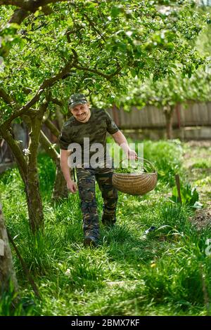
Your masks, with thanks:
[[(140, 158), (140, 157), (139, 157)], [(144, 161), (151, 164), (147, 159)], [(153, 173), (113, 173), (112, 183), (117, 190), (127, 194), (143, 195), (155, 188), (158, 180), (158, 173), (153, 167)]]

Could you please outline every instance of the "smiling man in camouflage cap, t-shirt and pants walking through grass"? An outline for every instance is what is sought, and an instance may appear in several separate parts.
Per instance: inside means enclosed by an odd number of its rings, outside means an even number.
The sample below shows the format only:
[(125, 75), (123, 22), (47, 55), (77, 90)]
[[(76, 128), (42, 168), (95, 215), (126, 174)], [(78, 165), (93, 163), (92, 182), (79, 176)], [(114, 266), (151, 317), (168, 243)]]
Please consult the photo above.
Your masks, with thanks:
[[(108, 112), (103, 109), (90, 110), (84, 94), (77, 93), (71, 95), (69, 110), (72, 113), (72, 117), (65, 122), (59, 136), (60, 166), (67, 182), (68, 190), (75, 193), (78, 186), (83, 214), (84, 245), (96, 246), (99, 239), (99, 222), (95, 180), (98, 182), (104, 202), (102, 223), (106, 226), (112, 226), (116, 221), (117, 190), (112, 185), (113, 166), (109, 167), (106, 163), (106, 157), (108, 157), (106, 154), (107, 131), (113, 136), (115, 142), (122, 147), (129, 159), (136, 159), (137, 154), (129, 148), (126, 138), (117, 128)], [(85, 147), (86, 139), (89, 140), (88, 147)], [(76, 147), (79, 145), (79, 151), (81, 151), (78, 157), (79, 162), (75, 166), (77, 185), (70, 176), (70, 167), (68, 165), (68, 157), (72, 149), (74, 149), (74, 147), (71, 147), (72, 144)], [(97, 166), (94, 166), (96, 162), (91, 163), (94, 157), (93, 147), (91, 146), (94, 144), (99, 148), (103, 146), (103, 154), (101, 152)]]

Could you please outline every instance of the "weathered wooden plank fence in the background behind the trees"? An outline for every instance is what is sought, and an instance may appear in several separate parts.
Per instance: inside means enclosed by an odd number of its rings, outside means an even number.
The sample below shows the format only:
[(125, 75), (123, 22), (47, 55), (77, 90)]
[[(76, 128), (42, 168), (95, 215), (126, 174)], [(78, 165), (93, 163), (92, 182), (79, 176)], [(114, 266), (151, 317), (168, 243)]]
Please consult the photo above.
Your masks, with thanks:
[[(150, 138), (158, 140), (165, 138), (166, 119), (162, 109), (148, 106), (139, 110), (133, 107), (130, 112), (123, 109), (108, 110), (118, 127), (123, 131), (129, 130), (130, 136), (136, 138)], [(180, 106), (173, 116), (173, 138), (181, 140), (206, 140), (211, 139), (211, 102), (188, 103), (186, 107)], [(16, 140), (22, 140), (21, 147), (27, 147), (27, 130), (25, 126), (14, 124), (14, 135)], [(49, 131), (44, 133), (52, 143), (56, 143), (55, 137)], [(13, 162), (14, 157), (4, 140), (0, 139), (0, 164)], [(3, 165), (2, 165), (3, 166)], [(3, 168), (2, 168), (3, 169)], [(0, 168), (1, 173), (1, 168)]]

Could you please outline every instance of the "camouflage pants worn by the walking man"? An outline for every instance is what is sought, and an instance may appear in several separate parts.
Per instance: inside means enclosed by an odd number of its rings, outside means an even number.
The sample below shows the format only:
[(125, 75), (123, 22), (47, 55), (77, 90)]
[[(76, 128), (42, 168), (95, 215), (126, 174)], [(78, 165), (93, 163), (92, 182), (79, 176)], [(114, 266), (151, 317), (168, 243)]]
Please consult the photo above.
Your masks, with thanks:
[(117, 206), (117, 190), (112, 185), (113, 169), (77, 169), (77, 185), (83, 214), (84, 235), (99, 237), (99, 221), (96, 204), (95, 182), (103, 197), (102, 223), (115, 223)]

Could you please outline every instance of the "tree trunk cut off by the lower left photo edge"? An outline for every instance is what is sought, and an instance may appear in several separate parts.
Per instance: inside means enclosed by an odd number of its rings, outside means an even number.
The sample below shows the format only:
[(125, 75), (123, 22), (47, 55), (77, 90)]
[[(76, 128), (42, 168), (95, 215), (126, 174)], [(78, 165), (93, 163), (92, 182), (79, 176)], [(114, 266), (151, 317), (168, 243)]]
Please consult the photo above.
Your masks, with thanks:
[(17, 292), (18, 282), (13, 268), (13, 258), (0, 202), (0, 297), (1, 293), (10, 289), (11, 284), (13, 291)]

